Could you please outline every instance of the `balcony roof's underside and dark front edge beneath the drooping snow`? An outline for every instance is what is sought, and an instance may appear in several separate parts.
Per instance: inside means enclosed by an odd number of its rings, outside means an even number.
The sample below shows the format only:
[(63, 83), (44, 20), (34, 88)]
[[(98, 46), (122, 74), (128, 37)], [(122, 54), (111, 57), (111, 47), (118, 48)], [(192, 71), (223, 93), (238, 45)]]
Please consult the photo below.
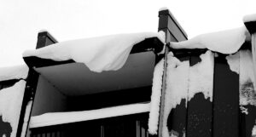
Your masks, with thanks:
[(37, 56), (23, 57), (26, 65), (38, 71), (63, 94), (83, 95), (152, 85), (155, 53), (164, 43), (149, 37), (135, 44), (125, 65), (117, 71), (90, 71), (74, 60), (49, 60)]

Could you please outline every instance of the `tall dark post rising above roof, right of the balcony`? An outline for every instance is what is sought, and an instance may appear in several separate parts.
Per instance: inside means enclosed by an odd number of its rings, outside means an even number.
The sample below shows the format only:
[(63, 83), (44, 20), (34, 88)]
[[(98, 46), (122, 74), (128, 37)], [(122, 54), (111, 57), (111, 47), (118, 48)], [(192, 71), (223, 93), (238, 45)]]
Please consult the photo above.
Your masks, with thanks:
[[(177, 20), (173, 17), (171, 12), (166, 10), (161, 10), (159, 12), (159, 28), (158, 31), (164, 31), (166, 33), (166, 43), (169, 42), (179, 42), (187, 40), (187, 34), (183, 31), (182, 27), (179, 26)], [(162, 89), (161, 89), (161, 99), (160, 99), (160, 118), (159, 118), (159, 128), (158, 136), (162, 137), (162, 125), (163, 125), (163, 115), (165, 108), (165, 94), (166, 94), (166, 67), (167, 67), (167, 54), (169, 53), (169, 46), (166, 46), (165, 54), (163, 56), (157, 57), (157, 60), (164, 58), (164, 72), (162, 78)]]

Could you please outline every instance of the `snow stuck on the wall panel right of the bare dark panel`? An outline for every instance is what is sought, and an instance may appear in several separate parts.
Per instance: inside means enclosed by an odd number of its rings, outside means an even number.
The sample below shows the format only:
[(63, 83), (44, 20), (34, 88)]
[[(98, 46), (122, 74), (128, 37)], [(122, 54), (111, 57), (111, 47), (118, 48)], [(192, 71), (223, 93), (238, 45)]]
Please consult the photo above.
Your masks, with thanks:
[(256, 106), (253, 56), (250, 50), (240, 51), (240, 106)]

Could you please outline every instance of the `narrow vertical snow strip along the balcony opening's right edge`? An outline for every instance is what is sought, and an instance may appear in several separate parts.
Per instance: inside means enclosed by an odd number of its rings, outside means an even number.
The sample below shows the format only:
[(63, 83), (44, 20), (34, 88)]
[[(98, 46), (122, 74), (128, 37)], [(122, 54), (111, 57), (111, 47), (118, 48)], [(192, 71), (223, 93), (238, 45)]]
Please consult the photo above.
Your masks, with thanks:
[(150, 112), (148, 119), (148, 133), (157, 134), (159, 113), (160, 113), (160, 97), (162, 89), (162, 77), (164, 72), (164, 60), (154, 67), (153, 87), (150, 102)]

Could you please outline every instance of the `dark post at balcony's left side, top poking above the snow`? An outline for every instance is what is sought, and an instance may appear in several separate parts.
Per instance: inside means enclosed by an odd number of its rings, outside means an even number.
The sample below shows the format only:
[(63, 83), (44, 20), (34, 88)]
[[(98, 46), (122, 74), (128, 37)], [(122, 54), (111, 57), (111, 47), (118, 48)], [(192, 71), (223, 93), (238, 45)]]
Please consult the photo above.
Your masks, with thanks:
[[(38, 43), (37, 43), (36, 49), (43, 48), (52, 43), (57, 43), (57, 41), (55, 40), (54, 37), (52, 37), (49, 34), (49, 32), (43, 31), (38, 33)], [(29, 110), (26, 109), (26, 106), (30, 101), (32, 101), (32, 104), (33, 104), (33, 100), (34, 100), (37, 86), (38, 86), (38, 77), (39, 77), (38, 72), (34, 71), (33, 68), (29, 68), (28, 75), (26, 78), (26, 88), (24, 91), (24, 98), (21, 105), (20, 119), (19, 119), (16, 137), (21, 136), (22, 130), (26, 129), (27, 131), (28, 124), (24, 125), (24, 117), (26, 117), (26, 113), (29, 113), (29, 117), (27, 121), (27, 123), (29, 123), (31, 112), (32, 112), (32, 106)], [(23, 126), (26, 126), (26, 128), (23, 128)], [(26, 132), (26, 131), (23, 131), (23, 132)]]

